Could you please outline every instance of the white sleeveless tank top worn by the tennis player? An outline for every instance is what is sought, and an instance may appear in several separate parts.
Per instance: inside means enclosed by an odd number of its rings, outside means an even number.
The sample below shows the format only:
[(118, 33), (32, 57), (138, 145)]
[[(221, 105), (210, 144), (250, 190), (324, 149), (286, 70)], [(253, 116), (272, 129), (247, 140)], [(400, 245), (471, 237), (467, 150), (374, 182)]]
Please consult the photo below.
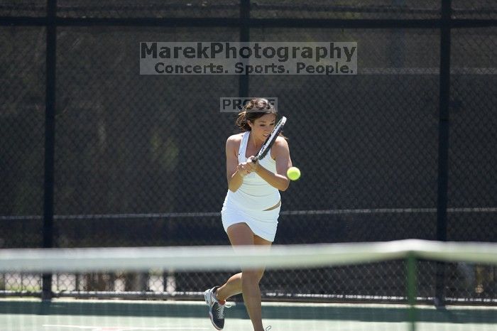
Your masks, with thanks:
[[(249, 142), (250, 131), (246, 131), (241, 138), (238, 150), (239, 163), (246, 162), (246, 149)], [(272, 173), (276, 173), (276, 161), (271, 158), (271, 151), (259, 160), (262, 165)], [(266, 180), (256, 173), (249, 173), (244, 177), (243, 183), (236, 192), (228, 190), (224, 205), (233, 203), (236, 207), (248, 210), (266, 210), (280, 201), (280, 191), (269, 185)]]

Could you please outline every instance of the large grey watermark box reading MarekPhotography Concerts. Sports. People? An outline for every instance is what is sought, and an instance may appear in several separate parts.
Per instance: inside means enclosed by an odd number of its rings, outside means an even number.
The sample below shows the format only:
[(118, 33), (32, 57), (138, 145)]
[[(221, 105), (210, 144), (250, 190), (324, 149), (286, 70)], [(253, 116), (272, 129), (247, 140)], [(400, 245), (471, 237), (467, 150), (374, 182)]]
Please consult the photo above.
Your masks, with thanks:
[(356, 75), (356, 42), (141, 42), (141, 75)]

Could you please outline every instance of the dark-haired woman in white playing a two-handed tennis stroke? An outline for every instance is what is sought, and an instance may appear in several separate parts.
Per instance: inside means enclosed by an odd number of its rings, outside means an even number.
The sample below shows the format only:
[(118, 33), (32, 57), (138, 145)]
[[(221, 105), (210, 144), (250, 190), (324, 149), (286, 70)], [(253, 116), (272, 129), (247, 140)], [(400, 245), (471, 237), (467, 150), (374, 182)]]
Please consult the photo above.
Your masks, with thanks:
[[(278, 226), (280, 192), (288, 188), (292, 166), (288, 143), (278, 136), (265, 157), (253, 162), (273, 131), (276, 111), (267, 99), (252, 99), (236, 119), (243, 131), (226, 141), (228, 192), (222, 207), (222, 224), (231, 246), (271, 246)], [(214, 327), (224, 327), (226, 299), (242, 293), (254, 331), (263, 331), (259, 281), (264, 269), (242, 269), (222, 286), (204, 292)]]

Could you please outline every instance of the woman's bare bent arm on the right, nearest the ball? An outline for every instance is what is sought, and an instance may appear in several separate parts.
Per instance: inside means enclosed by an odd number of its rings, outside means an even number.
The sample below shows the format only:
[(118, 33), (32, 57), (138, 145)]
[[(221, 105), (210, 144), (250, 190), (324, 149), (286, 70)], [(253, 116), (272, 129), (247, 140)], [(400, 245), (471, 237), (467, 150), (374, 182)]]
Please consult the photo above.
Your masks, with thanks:
[[(268, 156), (266, 156), (268, 157)], [(271, 148), (271, 156), (276, 162), (276, 173), (272, 173), (261, 165), (256, 168), (256, 173), (266, 180), (273, 188), (284, 191), (290, 185), (290, 180), (286, 176), (286, 170), (292, 166), (290, 159), (290, 149), (288, 142), (283, 137), (279, 136)]]

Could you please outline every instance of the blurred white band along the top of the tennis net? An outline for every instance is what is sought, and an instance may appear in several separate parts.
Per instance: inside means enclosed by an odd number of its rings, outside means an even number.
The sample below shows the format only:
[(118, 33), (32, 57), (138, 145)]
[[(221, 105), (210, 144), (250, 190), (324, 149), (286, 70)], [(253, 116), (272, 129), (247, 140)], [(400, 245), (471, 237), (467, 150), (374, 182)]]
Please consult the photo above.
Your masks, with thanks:
[(167, 246), (67, 249), (2, 249), (0, 273), (65, 271), (175, 271), (238, 268), (317, 268), (416, 259), (497, 265), (497, 244), (432, 242), (406, 239), (393, 242), (261, 246)]

